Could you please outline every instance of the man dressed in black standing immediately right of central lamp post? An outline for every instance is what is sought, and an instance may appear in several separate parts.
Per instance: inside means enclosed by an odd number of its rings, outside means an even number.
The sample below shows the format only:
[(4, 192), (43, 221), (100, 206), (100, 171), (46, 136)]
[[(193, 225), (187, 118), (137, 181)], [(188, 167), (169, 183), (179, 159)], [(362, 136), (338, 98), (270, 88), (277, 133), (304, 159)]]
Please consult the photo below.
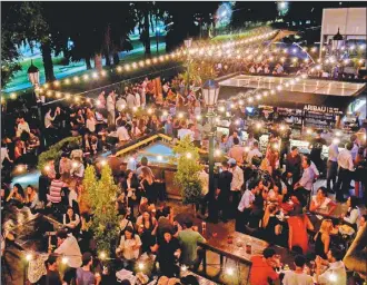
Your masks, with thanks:
[(229, 196), (230, 196), (230, 184), (232, 181), (234, 175), (228, 170), (228, 163), (221, 163), (221, 173), (218, 177), (218, 189), (219, 189), (219, 203), (221, 210), (221, 219), (224, 223), (228, 222), (229, 217)]

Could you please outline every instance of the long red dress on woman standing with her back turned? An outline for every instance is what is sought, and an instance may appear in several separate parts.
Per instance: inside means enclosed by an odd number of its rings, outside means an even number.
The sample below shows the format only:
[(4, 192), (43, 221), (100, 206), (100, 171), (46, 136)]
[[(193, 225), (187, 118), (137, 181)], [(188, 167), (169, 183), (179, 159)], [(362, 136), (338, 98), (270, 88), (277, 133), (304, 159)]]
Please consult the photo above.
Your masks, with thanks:
[(302, 253), (308, 250), (308, 236), (307, 236), (307, 223), (309, 222), (306, 215), (295, 216), (288, 218), (289, 227), (292, 227), (291, 246), (299, 246), (302, 248)]

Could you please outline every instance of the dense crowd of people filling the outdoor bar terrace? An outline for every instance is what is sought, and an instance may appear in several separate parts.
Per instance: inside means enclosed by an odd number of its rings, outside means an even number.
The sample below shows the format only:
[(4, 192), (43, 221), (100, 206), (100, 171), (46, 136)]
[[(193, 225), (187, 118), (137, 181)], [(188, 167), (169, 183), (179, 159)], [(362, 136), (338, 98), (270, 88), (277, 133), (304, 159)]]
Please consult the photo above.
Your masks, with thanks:
[[(280, 63), (272, 71), (267, 65), (251, 66), (251, 70), (284, 72)], [(196, 85), (192, 81), (187, 87), (184, 79), (176, 77), (163, 82), (160, 92), (156, 90), (156, 82), (146, 78), (142, 82), (127, 86), (121, 95), (117, 95), (116, 90), (108, 95), (102, 91), (95, 101), (86, 101), (82, 106), (50, 108), (44, 115), (43, 134), (30, 129), (24, 115), (18, 116), (14, 136), (4, 137), (1, 141), (2, 170), (9, 169), (10, 175), (14, 164), (28, 165), (29, 168), (34, 166), (40, 149), (63, 136), (82, 138), (81, 145), (62, 149), (60, 160), (50, 161), (42, 169), (38, 189), (34, 185), (23, 189), (26, 185), (10, 187), (9, 181), (2, 183), (1, 202), (4, 206), (27, 206), (33, 213), (50, 215), (63, 225), (63, 229), (57, 233), (56, 248), (49, 248), (47, 275), (41, 282), (70, 284), (77, 279), (78, 285), (103, 284), (103, 276), (108, 275), (108, 271), (93, 266), (92, 256), (98, 256), (90, 230), (93, 217), (82, 186), (87, 164), (97, 164), (95, 159), (106, 150), (111, 150), (108, 164), (119, 186), (115, 197), (120, 219), (120, 235), (116, 237), (113, 247), (117, 271), (133, 271), (145, 253), (156, 256), (159, 264), (156, 271), (167, 278), (167, 283), (162, 281), (161, 284), (168, 284), (168, 278), (179, 277), (179, 264), (198, 269), (202, 259), (198, 243), (206, 239), (194, 220), (176, 219), (175, 207), (168, 206), (162, 198), (165, 195), (157, 190), (156, 178), (146, 157), (141, 161), (129, 160), (126, 168), (116, 157), (117, 148), (157, 131), (172, 137), (173, 142), (189, 136), (195, 146), (208, 149), (208, 136), (204, 131), (208, 121), (202, 116), (205, 101), (195, 91)], [(197, 202), (197, 217), (210, 223), (235, 220), (237, 232), (297, 253), (296, 269), (281, 276), (284, 284), (313, 284), (309, 272), (304, 273), (309, 254), (313, 254), (314, 272), (319, 283), (336, 268), (340, 278), (345, 279), (341, 259), (346, 248), (338, 248), (338, 243), (331, 243), (331, 239), (341, 224), (356, 233), (365, 227), (366, 215), (361, 215), (359, 209), (360, 198), (366, 197), (364, 174), (367, 153), (364, 141), (353, 135), (340, 150), (335, 141), (326, 141), (318, 131), (310, 140), (309, 154), (300, 154), (297, 147), (290, 147), (291, 130), (277, 127), (270, 130), (269, 139), (261, 149), (258, 128), (250, 126), (245, 138), (242, 124), (241, 118), (235, 115), (229, 134), (224, 134), (216, 141), (224, 160), (216, 173), (214, 191), (209, 190), (207, 161), (200, 161), (202, 170), (198, 176), (202, 193)], [(325, 146), (328, 147), (327, 161), (321, 156)], [(100, 167), (97, 164), (97, 169)], [(326, 178), (325, 187), (319, 184), (320, 178)], [(350, 195), (351, 181), (354, 195)], [(331, 215), (338, 203), (344, 202), (347, 203), (346, 210), (334, 220), (325, 218), (315, 233), (315, 225), (306, 212), (325, 210), (326, 215)], [(314, 233), (313, 246), (308, 230)], [(59, 255), (69, 256), (62, 282), (56, 263)], [(254, 257), (251, 284), (267, 284), (267, 277), (279, 278), (274, 269), (279, 265), (279, 256), (271, 248), (267, 248), (262, 256)], [(323, 273), (325, 265), (327, 269)], [(176, 279), (169, 284), (195, 283)]]

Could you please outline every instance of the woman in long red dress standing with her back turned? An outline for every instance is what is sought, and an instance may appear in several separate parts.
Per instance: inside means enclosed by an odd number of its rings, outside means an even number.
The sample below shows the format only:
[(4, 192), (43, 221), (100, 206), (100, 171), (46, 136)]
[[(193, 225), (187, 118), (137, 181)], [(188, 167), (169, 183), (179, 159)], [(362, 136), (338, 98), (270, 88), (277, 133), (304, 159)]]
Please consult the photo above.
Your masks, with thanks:
[(302, 249), (302, 254), (306, 254), (308, 250), (307, 229), (314, 230), (314, 225), (311, 224), (307, 215), (302, 213), (302, 207), (299, 205), (295, 206), (295, 209), (290, 212), (289, 215), (289, 249), (291, 250), (294, 246), (298, 246)]

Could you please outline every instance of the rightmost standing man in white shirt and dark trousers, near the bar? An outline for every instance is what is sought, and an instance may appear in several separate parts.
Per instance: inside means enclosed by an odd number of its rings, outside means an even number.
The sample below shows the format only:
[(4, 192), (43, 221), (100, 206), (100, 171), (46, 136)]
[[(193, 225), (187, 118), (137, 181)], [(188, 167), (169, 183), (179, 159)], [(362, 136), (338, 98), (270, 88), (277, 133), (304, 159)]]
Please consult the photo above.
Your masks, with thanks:
[(349, 194), (349, 186), (355, 170), (351, 151), (350, 151), (351, 149), (353, 149), (353, 144), (347, 142), (346, 148), (343, 149), (337, 157), (339, 173), (338, 173), (338, 181), (336, 184), (335, 191), (336, 191), (336, 199), (338, 202), (345, 202), (344, 194)]

